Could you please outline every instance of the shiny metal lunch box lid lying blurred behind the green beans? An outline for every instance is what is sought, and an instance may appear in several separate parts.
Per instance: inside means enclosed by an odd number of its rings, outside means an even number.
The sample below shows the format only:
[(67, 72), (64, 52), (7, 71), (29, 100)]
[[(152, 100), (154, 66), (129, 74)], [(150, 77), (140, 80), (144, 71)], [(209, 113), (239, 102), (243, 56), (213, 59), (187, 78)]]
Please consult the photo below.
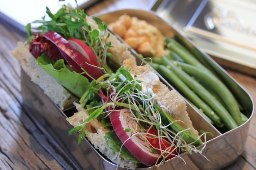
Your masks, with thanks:
[(166, 0), (163, 3), (157, 13), (206, 53), (223, 59), (218, 60), (220, 64), (230, 68), (242, 65), (236, 69), (256, 75), (256, 1)]

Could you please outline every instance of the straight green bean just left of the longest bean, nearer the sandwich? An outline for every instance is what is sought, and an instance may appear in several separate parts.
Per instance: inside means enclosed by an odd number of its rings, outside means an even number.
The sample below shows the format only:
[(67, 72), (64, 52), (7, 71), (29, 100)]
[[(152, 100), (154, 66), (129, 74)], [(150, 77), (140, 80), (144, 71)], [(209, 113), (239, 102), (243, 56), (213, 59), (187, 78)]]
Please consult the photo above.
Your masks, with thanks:
[(223, 121), (217, 114), (198, 97), (184, 82), (176, 76), (173, 71), (166, 68), (164, 65), (158, 65), (157, 72), (160, 73), (167, 81), (169, 81), (180, 93), (182, 93), (186, 98), (194, 103), (198, 108), (200, 108), (216, 125), (216, 127), (223, 127)]

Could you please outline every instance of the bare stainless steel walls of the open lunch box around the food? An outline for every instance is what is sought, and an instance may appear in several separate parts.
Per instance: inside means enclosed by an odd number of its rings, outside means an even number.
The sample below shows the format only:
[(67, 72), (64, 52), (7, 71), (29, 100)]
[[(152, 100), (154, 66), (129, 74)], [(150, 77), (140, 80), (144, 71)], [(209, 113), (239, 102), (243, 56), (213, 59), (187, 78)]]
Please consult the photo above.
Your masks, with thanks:
[[(219, 132), (215, 127), (207, 122), (192, 105), (187, 103), (187, 112), (193, 122), (193, 126), (197, 130), (204, 130), (205, 132), (212, 132), (213, 137), (206, 136), (206, 146), (202, 153), (189, 154), (187, 152), (166, 161), (159, 166), (159, 169), (220, 169), (234, 162), (245, 146), (248, 136), (248, 128), (250, 120), (253, 116), (254, 105), (250, 94), (245, 91), (231, 76), (226, 73), (214, 60), (212, 60), (203, 51), (198, 49), (193, 42), (182, 35), (170, 23), (161, 19), (156, 13), (151, 11), (143, 11), (140, 9), (124, 9), (120, 11), (113, 11), (110, 13), (100, 14), (105, 22), (114, 22), (118, 16), (127, 13), (129, 16), (137, 16), (139, 19), (146, 20), (149, 24), (158, 27), (164, 35), (173, 36), (179, 34), (184, 41), (190, 46), (195, 47), (202, 55), (203, 59), (212, 66), (212, 68), (219, 73), (219, 75), (226, 81), (231, 89), (235, 89), (235, 95), (239, 98), (239, 102), (245, 110), (245, 115), (248, 116), (246, 121), (241, 126), (234, 130), (225, 133)], [(139, 59), (138, 59), (139, 61)], [(167, 84), (170, 89), (173, 87), (168, 84), (161, 76), (162, 81)], [(22, 96), (26, 109), (28, 109), (32, 119), (38, 122), (39, 127), (44, 130), (44, 133), (49, 135), (56, 147), (60, 148), (63, 155), (70, 160), (72, 167), (77, 169), (122, 169), (117, 167), (103, 156), (91, 143), (84, 139), (81, 146), (77, 145), (78, 134), (67, 136), (67, 132), (72, 126), (66, 121), (66, 118), (71, 116), (74, 111), (72, 109), (61, 111), (44, 92), (30, 81), (30, 78), (22, 70)], [(204, 146), (199, 146), (198, 149)], [(139, 168), (142, 170), (153, 169), (153, 167)]]

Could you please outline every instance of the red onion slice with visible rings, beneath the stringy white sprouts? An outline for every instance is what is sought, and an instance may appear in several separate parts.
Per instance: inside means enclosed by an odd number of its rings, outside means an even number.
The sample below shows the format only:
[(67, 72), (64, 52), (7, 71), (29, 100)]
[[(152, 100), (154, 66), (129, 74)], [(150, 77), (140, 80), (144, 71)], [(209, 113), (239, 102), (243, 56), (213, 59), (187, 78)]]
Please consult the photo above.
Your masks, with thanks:
[(113, 129), (120, 140), (124, 143), (124, 146), (126, 146), (127, 149), (143, 164), (152, 166), (157, 162), (160, 155), (154, 154), (152, 148), (150, 148), (150, 144), (145, 143), (145, 138), (142, 138), (140, 135), (134, 135), (131, 137), (131, 132), (125, 132), (125, 129), (130, 129), (134, 130), (134, 134), (136, 133), (136, 128), (138, 130), (137, 121), (131, 119), (131, 117), (133, 117), (133, 115), (127, 108), (119, 111), (115, 110), (110, 113), (110, 120)]

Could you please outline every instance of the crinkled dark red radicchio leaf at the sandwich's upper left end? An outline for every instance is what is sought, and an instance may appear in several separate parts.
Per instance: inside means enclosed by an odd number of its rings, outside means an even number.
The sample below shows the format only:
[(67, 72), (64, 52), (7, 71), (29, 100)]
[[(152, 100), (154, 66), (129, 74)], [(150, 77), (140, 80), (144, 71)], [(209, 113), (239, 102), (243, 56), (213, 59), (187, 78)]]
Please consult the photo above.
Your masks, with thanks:
[(50, 40), (44, 38), (41, 34), (35, 33), (35, 38), (31, 40), (29, 44), (29, 51), (35, 57), (38, 58), (41, 54), (45, 53), (51, 59), (57, 61), (58, 59), (64, 59), (63, 55)]

